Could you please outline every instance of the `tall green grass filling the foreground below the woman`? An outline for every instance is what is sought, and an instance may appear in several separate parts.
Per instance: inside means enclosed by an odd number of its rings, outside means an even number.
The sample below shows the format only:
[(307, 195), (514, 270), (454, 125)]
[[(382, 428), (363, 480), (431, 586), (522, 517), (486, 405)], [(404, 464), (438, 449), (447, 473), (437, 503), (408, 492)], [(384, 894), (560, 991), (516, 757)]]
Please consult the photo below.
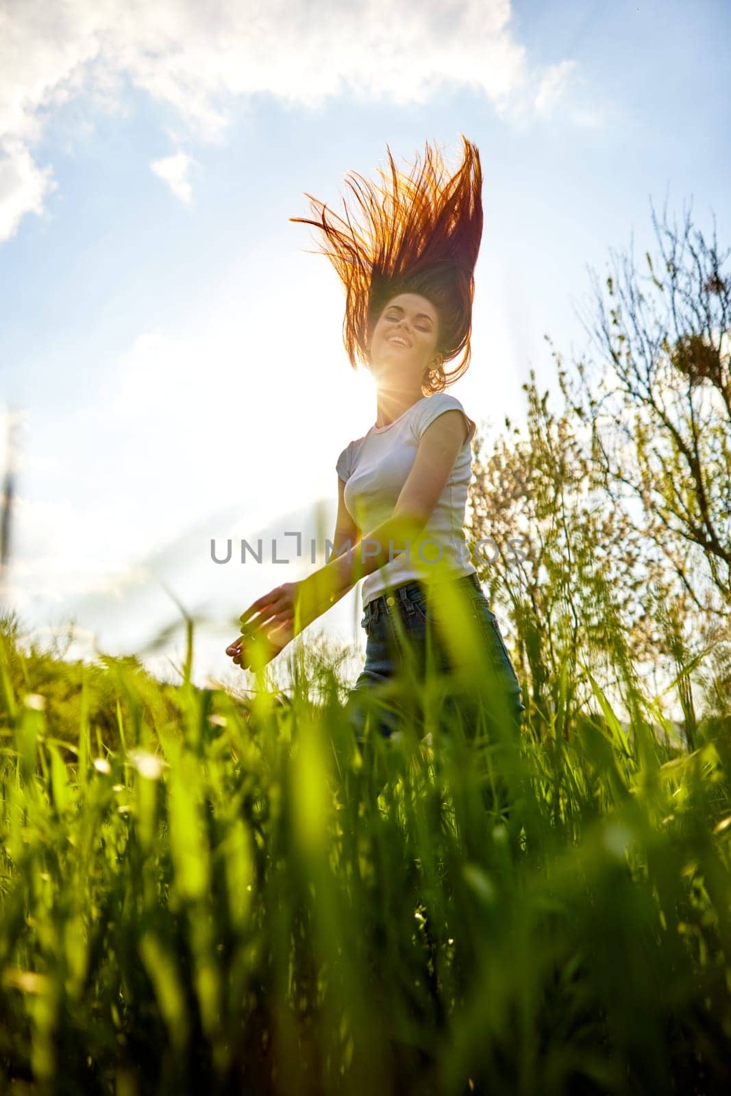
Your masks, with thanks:
[(2, 1092), (727, 1092), (729, 721), (673, 747), (596, 685), (361, 756), (310, 671), (242, 699), (4, 616)]

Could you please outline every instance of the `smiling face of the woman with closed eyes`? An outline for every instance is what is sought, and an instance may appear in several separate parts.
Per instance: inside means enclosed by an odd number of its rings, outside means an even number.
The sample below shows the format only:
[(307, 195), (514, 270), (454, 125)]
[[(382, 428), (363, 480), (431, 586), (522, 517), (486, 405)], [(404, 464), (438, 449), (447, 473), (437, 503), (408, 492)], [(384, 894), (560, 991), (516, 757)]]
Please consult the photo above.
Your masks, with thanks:
[(434, 305), (418, 293), (391, 297), (378, 318), (370, 341), (370, 369), (374, 376), (397, 380), (399, 387), (419, 387), (435, 365), (439, 338), (438, 313)]

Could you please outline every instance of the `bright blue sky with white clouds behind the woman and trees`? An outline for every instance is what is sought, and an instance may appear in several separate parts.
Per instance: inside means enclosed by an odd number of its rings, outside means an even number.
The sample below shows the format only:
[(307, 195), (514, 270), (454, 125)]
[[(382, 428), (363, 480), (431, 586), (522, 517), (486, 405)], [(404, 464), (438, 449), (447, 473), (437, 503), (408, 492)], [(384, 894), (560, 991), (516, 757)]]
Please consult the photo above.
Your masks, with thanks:
[[(525, 420), (530, 369), (557, 391), (545, 335), (582, 352), (589, 271), (642, 254), (651, 202), (692, 201), (729, 240), (729, 41), (726, 0), (0, 0), (3, 605), (39, 638), (71, 620), (69, 657), (170, 680), (182, 609), (195, 680), (240, 682), (239, 615), (313, 569), (284, 533), (324, 547), (335, 460), (376, 418), (338, 276), (288, 220), (306, 195), (342, 213), (387, 148), (407, 169), (430, 141), (456, 169), (460, 134), (478, 146), (450, 392), (489, 446)], [(288, 562), (242, 564), (259, 536)], [(362, 648), (358, 606), (359, 587), (318, 625)]]

